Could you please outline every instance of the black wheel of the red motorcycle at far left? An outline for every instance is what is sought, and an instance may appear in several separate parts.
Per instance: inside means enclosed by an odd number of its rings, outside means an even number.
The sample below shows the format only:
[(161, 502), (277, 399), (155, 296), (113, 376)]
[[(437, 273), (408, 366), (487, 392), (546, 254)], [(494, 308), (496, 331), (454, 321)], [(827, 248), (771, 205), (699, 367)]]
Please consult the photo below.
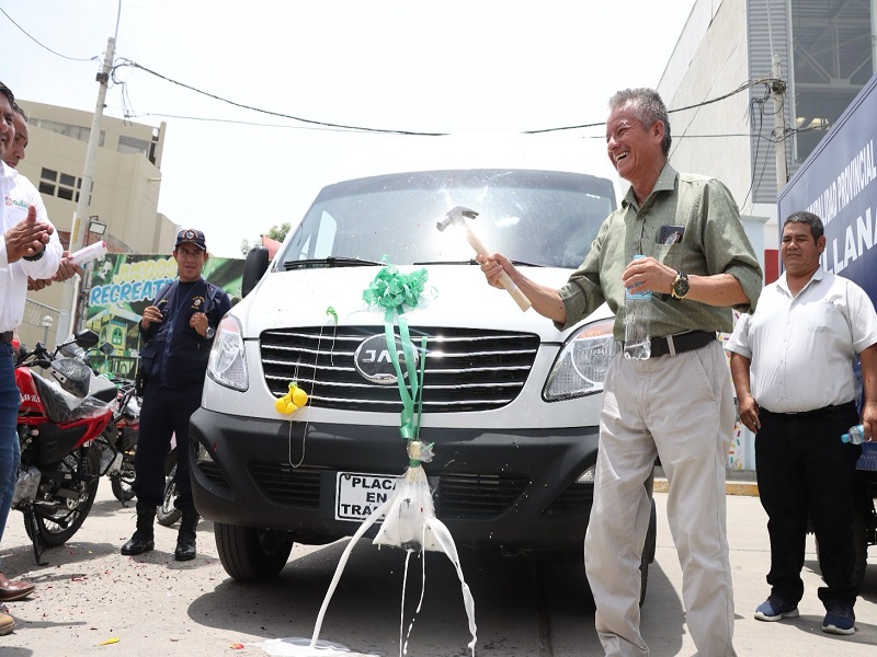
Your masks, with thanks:
[[(100, 471), (100, 457), (96, 450), (92, 450), (89, 453), (83, 472), (78, 472), (79, 454), (76, 452), (67, 454), (58, 464), (58, 470), (61, 472), (69, 472), (73, 480), (80, 480), (83, 475), (91, 475), (93, 479), (89, 482), (80, 481), (78, 484), (78, 498), (68, 498), (54, 515), (47, 515), (37, 510), (35, 526), (39, 534), (37, 540), (41, 545), (45, 548), (64, 545), (79, 531), (79, 528), (82, 527), (89, 511), (91, 511), (91, 506), (94, 504), (94, 497), (98, 495), (98, 483), (100, 482), (98, 472)], [(27, 531), (27, 535), (33, 540), (33, 528), (26, 522), (24, 528)]]

